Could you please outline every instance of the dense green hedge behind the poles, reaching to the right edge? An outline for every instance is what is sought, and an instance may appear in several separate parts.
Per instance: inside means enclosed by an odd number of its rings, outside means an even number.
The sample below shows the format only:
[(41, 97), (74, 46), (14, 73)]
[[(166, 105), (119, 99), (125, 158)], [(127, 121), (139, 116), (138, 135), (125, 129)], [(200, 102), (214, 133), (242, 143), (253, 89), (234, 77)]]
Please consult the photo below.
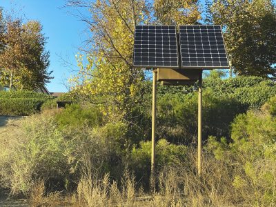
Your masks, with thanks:
[[(204, 87), (202, 110), (204, 141), (210, 135), (226, 137), (229, 141), (230, 123), (234, 118), (248, 109), (261, 108), (276, 94), (276, 85), (273, 81), (262, 77), (221, 79), (215, 71), (204, 79)], [(196, 144), (197, 92), (191, 90), (181, 92), (180, 86), (174, 92), (171, 88), (167, 89), (165, 92), (166, 90), (162, 88), (163, 94), (157, 96), (157, 137), (166, 138), (175, 144)], [(272, 110), (273, 106), (270, 108)], [(144, 111), (150, 117), (150, 108)]]

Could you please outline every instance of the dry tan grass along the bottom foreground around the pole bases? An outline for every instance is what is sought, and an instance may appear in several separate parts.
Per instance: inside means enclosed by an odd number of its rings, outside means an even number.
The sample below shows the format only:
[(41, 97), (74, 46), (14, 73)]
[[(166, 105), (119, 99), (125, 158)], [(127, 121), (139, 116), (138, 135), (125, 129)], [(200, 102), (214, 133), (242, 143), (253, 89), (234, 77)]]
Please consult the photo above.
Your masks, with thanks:
[[(204, 168), (201, 177), (196, 174), (196, 153), (189, 153), (189, 163), (170, 166), (159, 172), (155, 193), (146, 194), (142, 188), (137, 188), (133, 175), (125, 170), (120, 183), (112, 181), (106, 174), (102, 179), (95, 176), (83, 177), (79, 181), (77, 192), (67, 197), (68, 206), (275, 206), (275, 199), (266, 201), (266, 186), (271, 186), (259, 180), (259, 183), (242, 177), (239, 168), (229, 168), (210, 155), (204, 155)], [(266, 170), (275, 172), (275, 166), (259, 164)], [(262, 166), (261, 166), (262, 165)], [(260, 169), (259, 168), (259, 169)], [(235, 188), (233, 184), (233, 169), (235, 175), (248, 179), (247, 184)], [(240, 171), (239, 171), (240, 170)], [(262, 171), (262, 170), (261, 170)], [(261, 172), (259, 172), (261, 173)], [(262, 174), (262, 173), (261, 173)], [(273, 175), (273, 174), (270, 174)], [(276, 175), (276, 172), (275, 174)], [(244, 175), (245, 176), (245, 175)], [(257, 186), (257, 185), (260, 186)], [(275, 184), (274, 184), (275, 185)], [(262, 187), (262, 188), (261, 188)], [(275, 186), (274, 193), (275, 193)], [(32, 191), (32, 206), (65, 206), (60, 195), (43, 196), (43, 184), (38, 183)], [(270, 192), (272, 193), (272, 192)]]

